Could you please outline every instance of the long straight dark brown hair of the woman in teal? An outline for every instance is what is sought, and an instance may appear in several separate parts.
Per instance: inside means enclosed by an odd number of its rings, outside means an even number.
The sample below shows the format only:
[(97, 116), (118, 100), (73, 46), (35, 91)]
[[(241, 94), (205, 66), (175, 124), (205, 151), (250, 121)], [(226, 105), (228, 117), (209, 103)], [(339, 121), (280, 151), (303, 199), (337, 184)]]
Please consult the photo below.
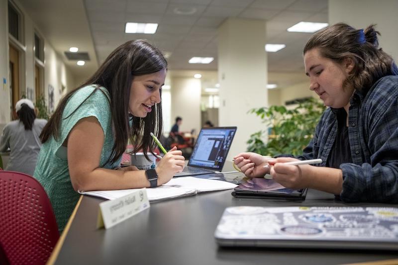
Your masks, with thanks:
[[(110, 96), (109, 105), (115, 143), (107, 162), (115, 163), (118, 160), (126, 149), (128, 139), (133, 144), (133, 153), (143, 150), (145, 157), (147, 157), (146, 151), (150, 150), (153, 153), (154, 148), (150, 133), (153, 132), (158, 138), (162, 134), (162, 105), (161, 103), (155, 104), (145, 118), (129, 114), (130, 88), (134, 76), (153, 74), (163, 69), (167, 69), (166, 59), (148, 41), (127, 41), (120, 45), (105, 59), (89, 80), (61, 99), (57, 109), (40, 134), (40, 140), (45, 143), (51, 136), (56, 140), (58, 139), (62, 113), (68, 99), (80, 88), (94, 84), (106, 88)], [(97, 89), (99, 88), (96, 88), (93, 93)], [(132, 121), (131, 128), (130, 121)]]

